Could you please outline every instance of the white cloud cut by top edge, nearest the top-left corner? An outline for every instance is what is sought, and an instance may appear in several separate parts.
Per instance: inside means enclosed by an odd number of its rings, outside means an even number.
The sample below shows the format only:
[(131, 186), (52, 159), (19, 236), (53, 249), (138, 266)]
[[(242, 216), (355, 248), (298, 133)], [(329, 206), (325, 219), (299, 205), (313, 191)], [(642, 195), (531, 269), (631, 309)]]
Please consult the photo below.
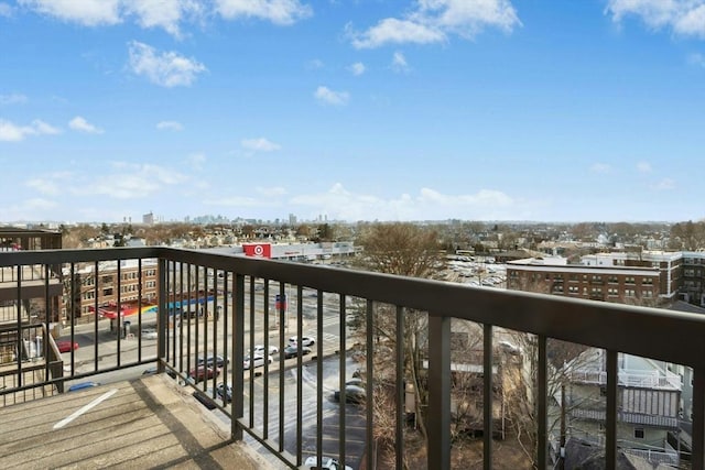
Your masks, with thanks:
[(120, 0), (19, 0), (19, 4), (41, 14), (86, 26), (118, 24), (122, 21)]

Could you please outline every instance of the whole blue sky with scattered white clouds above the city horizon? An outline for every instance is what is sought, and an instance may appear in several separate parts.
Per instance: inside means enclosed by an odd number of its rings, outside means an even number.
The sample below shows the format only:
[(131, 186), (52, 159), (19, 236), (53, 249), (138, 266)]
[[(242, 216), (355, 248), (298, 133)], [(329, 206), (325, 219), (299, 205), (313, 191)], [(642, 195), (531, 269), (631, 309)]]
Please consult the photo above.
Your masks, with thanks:
[(705, 217), (705, 0), (0, 0), (0, 223)]

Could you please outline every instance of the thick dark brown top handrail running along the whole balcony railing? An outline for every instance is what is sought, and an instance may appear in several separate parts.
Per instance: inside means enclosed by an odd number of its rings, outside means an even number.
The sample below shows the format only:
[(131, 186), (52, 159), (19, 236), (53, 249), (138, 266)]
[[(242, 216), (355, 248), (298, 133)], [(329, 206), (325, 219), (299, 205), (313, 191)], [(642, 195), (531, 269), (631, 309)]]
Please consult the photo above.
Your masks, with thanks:
[[(0, 266), (160, 256), (705, 368), (705, 317), (696, 314), (164, 247), (8, 252), (0, 255)], [(473, 308), (459, 308), (467, 305)]]

